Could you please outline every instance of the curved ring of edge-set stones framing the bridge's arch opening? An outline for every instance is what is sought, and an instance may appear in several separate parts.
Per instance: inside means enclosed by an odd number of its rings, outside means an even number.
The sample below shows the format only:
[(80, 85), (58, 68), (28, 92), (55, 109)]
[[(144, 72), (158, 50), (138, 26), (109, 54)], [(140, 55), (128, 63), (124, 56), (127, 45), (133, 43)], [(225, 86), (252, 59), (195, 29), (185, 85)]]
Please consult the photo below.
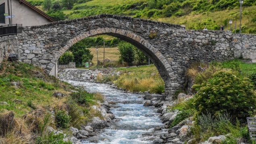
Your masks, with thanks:
[(171, 95), (174, 93), (174, 91), (172, 90), (175, 90), (175, 88), (173, 89), (171, 87), (173, 84), (175, 84), (172, 83), (172, 81), (176, 78), (175, 76), (173, 76), (173, 70), (171, 68), (171, 65), (154, 45), (152, 45), (148, 40), (144, 39), (143, 37), (136, 35), (132, 31), (116, 28), (99, 28), (83, 32), (79, 35), (72, 37), (69, 41), (67, 41), (67, 44), (58, 49), (58, 51), (54, 50), (54, 61), (57, 62), (60, 56), (75, 43), (81, 41), (82, 39), (95, 35), (111, 35), (114, 37), (118, 37), (124, 41), (132, 43), (138, 49), (142, 50), (146, 54), (146, 56), (151, 58), (156, 68), (158, 69), (160, 76), (163, 78), (165, 83), (165, 93)]

